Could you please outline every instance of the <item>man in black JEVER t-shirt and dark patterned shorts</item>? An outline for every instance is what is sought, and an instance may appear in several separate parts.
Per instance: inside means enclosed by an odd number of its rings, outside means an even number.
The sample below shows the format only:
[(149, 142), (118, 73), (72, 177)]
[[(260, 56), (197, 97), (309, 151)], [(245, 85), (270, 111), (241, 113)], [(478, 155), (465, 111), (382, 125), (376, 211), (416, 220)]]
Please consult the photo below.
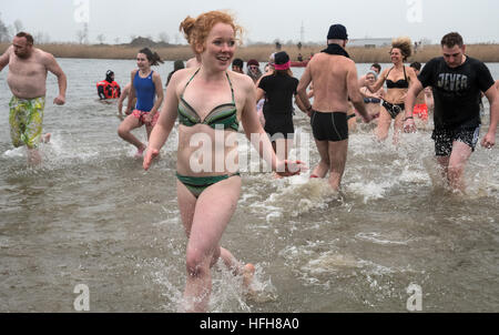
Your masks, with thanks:
[(475, 150), (480, 130), (481, 92), (490, 102), (489, 131), (483, 148), (496, 144), (499, 121), (499, 93), (489, 69), (481, 61), (467, 57), (466, 45), (457, 32), (441, 40), (444, 57), (430, 60), (413, 83), (406, 98), (404, 130), (415, 131), (413, 106), (426, 87), (432, 87), (435, 100), (435, 151), (442, 174), (452, 190), (465, 191), (465, 165)]

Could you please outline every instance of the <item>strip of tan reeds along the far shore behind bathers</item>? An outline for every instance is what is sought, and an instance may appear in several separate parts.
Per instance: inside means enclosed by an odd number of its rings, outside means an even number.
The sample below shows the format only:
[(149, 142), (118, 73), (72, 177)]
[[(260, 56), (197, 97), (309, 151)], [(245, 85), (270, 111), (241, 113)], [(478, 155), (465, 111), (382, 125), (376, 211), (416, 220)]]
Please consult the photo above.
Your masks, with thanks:
[[(0, 44), (0, 53), (3, 53), (10, 43)], [(149, 45), (130, 45), (130, 44), (71, 44), (71, 43), (50, 43), (50, 44), (35, 44), (35, 48), (40, 48), (43, 51), (52, 53), (55, 58), (79, 58), (79, 59), (116, 59), (126, 60), (134, 59), (138, 51)], [(193, 52), (190, 45), (169, 45), (169, 47), (150, 47), (153, 51), (156, 51), (161, 58), (165, 61), (175, 61), (187, 59), (193, 57)], [(285, 44), (282, 50), (286, 51), (292, 60), (296, 60), (298, 53), (302, 53), (304, 59), (307, 59), (310, 53), (317, 53), (323, 50), (325, 45), (314, 44), (304, 45), (302, 50), (295, 44)], [(352, 59), (356, 63), (387, 63), (389, 59), (390, 47), (379, 48), (346, 48)], [(245, 62), (249, 59), (256, 59), (259, 62), (267, 62), (269, 54), (276, 52), (274, 44), (255, 44), (248, 47), (240, 47), (235, 53), (235, 58), (241, 58)], [(469, 44), (467, 45), (466, 53), (469, 57), (479, 59), (482, 62), (493, 63), (499, 62), (499, 44)], [(431, 58), (440, 57), (440, 45), (424, 45), (418, 49), (408, 60), (409, 62), (426, 63)]]

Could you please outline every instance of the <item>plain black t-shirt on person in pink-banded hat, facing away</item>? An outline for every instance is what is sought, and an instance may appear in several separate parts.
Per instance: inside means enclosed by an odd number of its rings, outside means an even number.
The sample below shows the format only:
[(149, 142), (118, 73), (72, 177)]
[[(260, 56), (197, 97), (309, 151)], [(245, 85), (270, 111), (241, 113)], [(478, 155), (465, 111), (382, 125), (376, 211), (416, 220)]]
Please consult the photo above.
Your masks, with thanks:
[(291, 114), (293, 112), (293, 95), (296, 94), (298, 80), (289, 75), (266, 75), (259, 81), (262, 90), (265, 91), (266, 100), (264, 112), (278, 114)]

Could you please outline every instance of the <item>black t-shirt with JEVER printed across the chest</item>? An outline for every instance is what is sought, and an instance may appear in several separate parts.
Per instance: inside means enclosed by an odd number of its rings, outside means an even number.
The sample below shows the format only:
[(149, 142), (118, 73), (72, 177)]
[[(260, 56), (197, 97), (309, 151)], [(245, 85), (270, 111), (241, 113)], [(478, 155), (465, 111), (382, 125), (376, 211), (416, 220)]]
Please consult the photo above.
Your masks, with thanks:
[(493, 85), (489, 69), (467, 57), (458, 68), (449, 68), (442, 57), (430, 60), (418, 77), (431, 87), (435, 100), (435, 128), (477, 128), (480, 125), (481, 92)]

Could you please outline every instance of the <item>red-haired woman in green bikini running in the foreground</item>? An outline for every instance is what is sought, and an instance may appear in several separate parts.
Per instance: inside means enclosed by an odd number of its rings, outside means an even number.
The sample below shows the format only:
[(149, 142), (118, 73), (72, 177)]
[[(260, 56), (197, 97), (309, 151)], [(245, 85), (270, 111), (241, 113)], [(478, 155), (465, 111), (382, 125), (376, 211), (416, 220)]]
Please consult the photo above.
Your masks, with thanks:
[[(212, 288), (211, 267), (221, 257), (247, 285), (254, 273), (220, 246), (241, 193), (238, 122), (262, 156), (283, 175), (297, 174), (302, 162), (278, 161), (256, 114), (255, 85), (249, 77), (227, 71), (241, 28), (224, 12), (211, 11), (181, 23), (201, 68), (172, 77), (160, 120), (144, 158), (144, 169), (167, 140), (179, 118), (177, 197), (187, 235), (184, 309), (205, 312)], [(252, 136), (253, 134), (253, 136)], [(259, 135), (255, 141), (255, 134)], [(292, 171), (294, 173), (292, 173)]]

